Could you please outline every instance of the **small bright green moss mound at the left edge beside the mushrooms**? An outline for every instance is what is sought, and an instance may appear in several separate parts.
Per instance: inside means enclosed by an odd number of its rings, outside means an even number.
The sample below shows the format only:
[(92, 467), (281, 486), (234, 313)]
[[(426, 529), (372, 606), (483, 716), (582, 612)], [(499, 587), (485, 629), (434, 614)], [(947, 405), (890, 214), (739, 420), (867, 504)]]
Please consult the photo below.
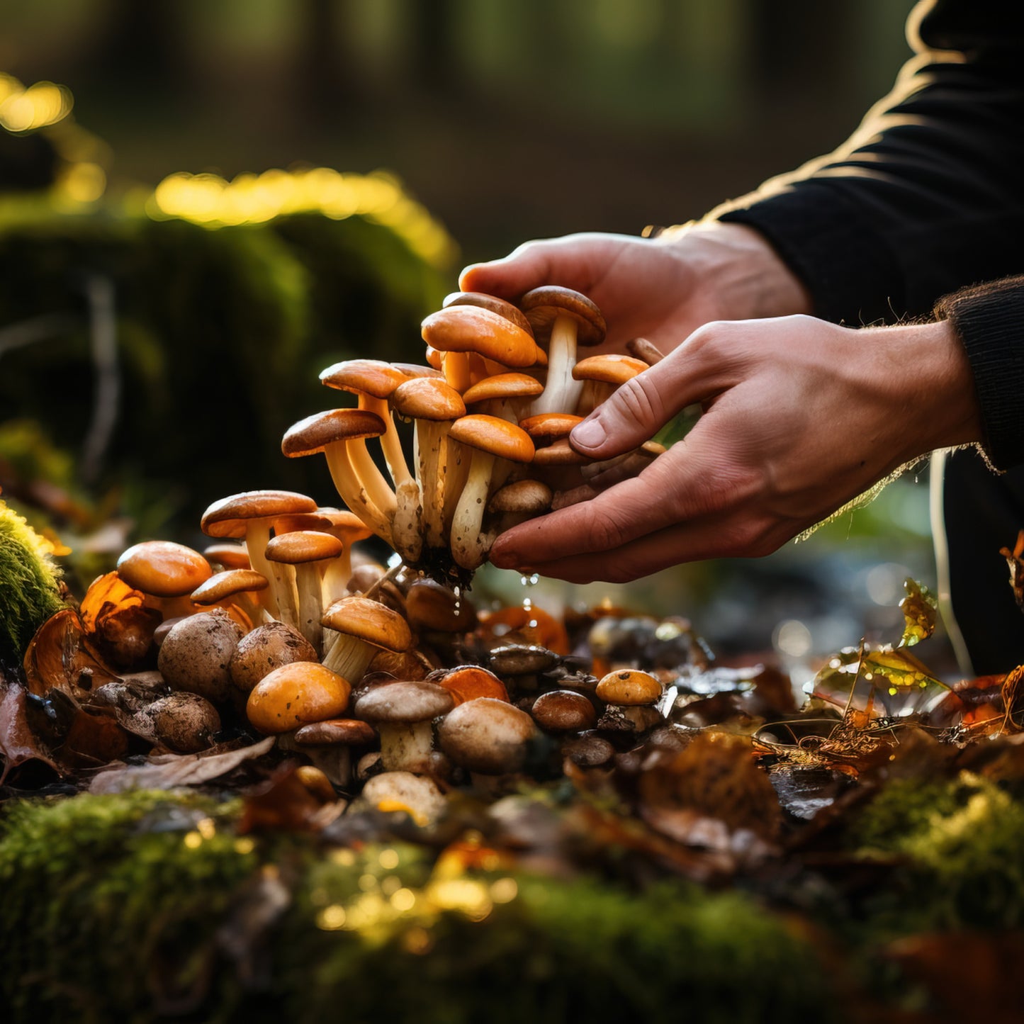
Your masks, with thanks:
[(0, 666), (16, 666), (33, 634), (63, 602), (48, 545), (0, 501)]

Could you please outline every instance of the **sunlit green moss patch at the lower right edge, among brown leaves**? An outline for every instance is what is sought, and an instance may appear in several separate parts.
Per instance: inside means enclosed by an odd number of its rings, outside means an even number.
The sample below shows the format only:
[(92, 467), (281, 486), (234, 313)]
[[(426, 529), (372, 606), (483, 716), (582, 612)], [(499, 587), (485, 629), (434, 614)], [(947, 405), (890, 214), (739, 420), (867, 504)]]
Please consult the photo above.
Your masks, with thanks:
[(865, 858), (905, 858), (874, 901), (876, 924), (899, 934), (1024, 927), (1024, 802), (998, 783), (891, 782), (862, 815)]

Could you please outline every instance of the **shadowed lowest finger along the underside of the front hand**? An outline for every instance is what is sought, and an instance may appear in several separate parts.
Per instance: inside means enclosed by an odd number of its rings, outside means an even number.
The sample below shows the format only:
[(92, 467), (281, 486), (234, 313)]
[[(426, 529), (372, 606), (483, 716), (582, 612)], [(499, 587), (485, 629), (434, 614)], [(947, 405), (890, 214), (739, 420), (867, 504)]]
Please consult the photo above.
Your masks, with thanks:
[(785, 526), (773, 527), (760, 520), (733, 523), (706, 516), (648, 534), (601, 555), (574, 554), (502, 567), (574, 584), (630, 583), (683, 562), (766, 555), (795, 537), (800, 528), (792, 524), (790, 531)]

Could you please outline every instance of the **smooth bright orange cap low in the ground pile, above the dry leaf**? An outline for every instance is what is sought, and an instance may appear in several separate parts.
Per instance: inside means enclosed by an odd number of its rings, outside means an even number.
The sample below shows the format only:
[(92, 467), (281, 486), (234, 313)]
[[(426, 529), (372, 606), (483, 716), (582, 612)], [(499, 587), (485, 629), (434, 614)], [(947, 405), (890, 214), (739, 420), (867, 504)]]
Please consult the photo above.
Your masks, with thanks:
[(252, 689), (246, 715), (267, 735), (337, 718), (348, 708), (347, 679), (318, 662), (292, 662), (267, 673)]

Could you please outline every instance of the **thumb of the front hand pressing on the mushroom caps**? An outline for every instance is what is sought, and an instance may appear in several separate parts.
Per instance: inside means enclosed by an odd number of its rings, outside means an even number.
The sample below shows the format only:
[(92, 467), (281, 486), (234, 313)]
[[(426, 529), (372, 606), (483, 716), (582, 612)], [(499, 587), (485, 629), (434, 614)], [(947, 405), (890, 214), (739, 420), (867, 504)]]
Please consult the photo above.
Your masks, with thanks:
[(601, 402), (569, 434), (591, 459), (610, 459), (639, 447), (677, 413), (737, 383), (733, 359), (709, 356), (697, 331), (660, 362), (644, 370)]

